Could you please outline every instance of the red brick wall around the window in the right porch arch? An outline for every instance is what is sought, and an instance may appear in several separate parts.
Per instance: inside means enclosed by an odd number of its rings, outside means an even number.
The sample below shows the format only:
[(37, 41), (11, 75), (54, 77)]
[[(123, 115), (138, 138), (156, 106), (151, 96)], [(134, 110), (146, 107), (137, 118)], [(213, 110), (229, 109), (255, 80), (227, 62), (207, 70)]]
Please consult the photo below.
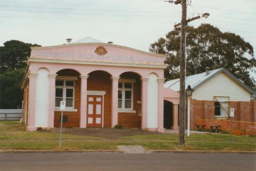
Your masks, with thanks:
[(141, 80), (137, 74), (132, 72), (125, 72), (121, 75), (120, 79), (135, 79), (136, 82), (133, 84), (133, 110), (135, 113), (118, 113), (118, 125), (129, 128), (140, 128), (141, 117), (139, 116), (139, 110), (141, 110)]

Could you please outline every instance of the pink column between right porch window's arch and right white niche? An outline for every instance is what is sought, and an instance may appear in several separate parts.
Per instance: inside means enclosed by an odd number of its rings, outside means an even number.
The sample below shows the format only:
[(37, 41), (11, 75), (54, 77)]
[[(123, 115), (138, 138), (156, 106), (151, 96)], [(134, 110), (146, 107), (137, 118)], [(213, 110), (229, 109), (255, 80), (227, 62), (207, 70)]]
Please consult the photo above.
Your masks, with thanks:
[(141, 79), (141, 128), (148, 128), (148, 78)]

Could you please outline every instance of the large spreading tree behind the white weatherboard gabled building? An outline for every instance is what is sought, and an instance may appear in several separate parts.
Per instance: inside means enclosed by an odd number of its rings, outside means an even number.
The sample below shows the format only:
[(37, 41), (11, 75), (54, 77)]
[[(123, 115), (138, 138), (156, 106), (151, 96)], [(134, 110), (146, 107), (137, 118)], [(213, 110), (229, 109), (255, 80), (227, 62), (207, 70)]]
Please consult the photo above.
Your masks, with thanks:
[[(150, 45), (154, 53), (165, 54), (165, 77), (179, 77), (180, 28), (175, 28)], [(205, 68), (225, 68), (246, 85), (255, 87), (250, 71), (256, 72), (253, 47), (239, 35), (221, 32), (209, 24), (187, 27), (187, 75), (205, 72)]]

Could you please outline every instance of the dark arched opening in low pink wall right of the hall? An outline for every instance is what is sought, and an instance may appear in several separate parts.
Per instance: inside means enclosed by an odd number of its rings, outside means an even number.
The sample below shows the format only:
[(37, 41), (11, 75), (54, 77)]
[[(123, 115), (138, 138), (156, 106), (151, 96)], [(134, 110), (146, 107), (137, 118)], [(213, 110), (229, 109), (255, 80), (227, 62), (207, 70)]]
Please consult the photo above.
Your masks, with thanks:
[(171, 129), (173, 126), (173, 103), (164, 100), (164, 128)]

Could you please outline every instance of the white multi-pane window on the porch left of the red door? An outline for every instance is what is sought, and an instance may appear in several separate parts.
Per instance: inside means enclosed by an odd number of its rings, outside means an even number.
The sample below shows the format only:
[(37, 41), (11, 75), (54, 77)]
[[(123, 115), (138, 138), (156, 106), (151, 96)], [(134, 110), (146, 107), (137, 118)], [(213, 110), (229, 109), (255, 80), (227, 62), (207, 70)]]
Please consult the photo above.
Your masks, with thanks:
[(55, 107), (60, 107), (60, 101), (66, 101), (66, 107), (74, 108), (74, 81), (56, 80)]

